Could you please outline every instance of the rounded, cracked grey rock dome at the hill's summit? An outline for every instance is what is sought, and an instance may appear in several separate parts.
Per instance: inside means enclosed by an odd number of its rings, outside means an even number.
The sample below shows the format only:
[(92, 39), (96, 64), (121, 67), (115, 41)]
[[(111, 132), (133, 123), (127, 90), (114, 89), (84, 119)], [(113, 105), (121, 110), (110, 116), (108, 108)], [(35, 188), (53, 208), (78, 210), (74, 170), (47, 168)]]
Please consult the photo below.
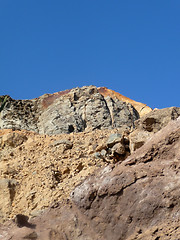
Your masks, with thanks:
[(39, 117), (39, 132), (52, 135), (122, 126), (131, 128), (138, 118), (131, 104), (104, 98), (93, 86), (75, 88), (43, 111)]

